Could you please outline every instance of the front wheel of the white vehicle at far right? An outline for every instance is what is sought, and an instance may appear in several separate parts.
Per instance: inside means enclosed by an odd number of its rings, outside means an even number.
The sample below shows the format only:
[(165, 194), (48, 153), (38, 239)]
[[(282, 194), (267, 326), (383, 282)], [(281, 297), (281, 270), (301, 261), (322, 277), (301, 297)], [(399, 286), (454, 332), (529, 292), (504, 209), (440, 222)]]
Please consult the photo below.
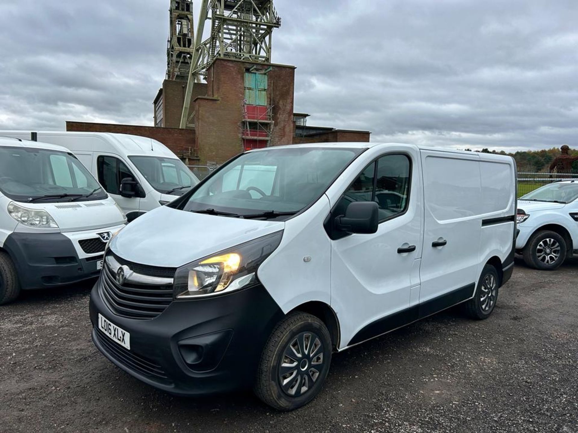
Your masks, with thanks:
[(566, 259), (566, 241), (560, 234), (541, 230), (529, 238), (524, 248), (524, 262), (541, 271), (553, 271)]

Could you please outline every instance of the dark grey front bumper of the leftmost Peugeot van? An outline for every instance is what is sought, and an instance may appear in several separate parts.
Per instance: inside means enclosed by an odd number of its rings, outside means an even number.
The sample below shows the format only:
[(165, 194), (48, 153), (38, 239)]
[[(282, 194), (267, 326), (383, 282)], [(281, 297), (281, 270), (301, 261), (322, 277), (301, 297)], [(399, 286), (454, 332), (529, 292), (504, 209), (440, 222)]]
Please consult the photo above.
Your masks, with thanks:
[(4, 249), (16, 266), (23, 290), (44, 289), (98, 277), (102, 256), (80, 259), (62, 233), (11, 233)]

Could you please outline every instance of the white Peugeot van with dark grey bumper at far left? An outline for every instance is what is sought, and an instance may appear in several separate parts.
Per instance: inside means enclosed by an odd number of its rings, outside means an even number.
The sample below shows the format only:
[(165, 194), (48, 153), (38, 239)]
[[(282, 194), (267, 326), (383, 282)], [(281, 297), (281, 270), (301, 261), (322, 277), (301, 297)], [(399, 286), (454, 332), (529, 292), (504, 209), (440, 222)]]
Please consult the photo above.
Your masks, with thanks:
[(98, 277), (126, 222), (68, 149), (0, 137), (0, 305), (20, 290)]

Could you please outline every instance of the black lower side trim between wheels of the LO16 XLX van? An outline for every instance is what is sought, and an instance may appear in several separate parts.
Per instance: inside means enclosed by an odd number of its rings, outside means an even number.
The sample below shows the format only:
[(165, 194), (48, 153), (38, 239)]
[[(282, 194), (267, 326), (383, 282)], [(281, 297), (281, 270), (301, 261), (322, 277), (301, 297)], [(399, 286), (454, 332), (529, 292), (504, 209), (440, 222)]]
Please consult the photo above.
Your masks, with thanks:
[(430, 299), (423, 304), (417, 304), (384, 318), (377, 319), (375, 322), (369, 323), (355, 334), (347, 346), (358, 344), (370, 338), (386, 334), (395, 329), (401, 328), (402, 326), (416, 322), (416, 320), (423, 319), (446, 308), (452, 307), (455, 304), (462, 303), (473, 296), (475, 288), (476, 284), (471, 283), (467, 286)]

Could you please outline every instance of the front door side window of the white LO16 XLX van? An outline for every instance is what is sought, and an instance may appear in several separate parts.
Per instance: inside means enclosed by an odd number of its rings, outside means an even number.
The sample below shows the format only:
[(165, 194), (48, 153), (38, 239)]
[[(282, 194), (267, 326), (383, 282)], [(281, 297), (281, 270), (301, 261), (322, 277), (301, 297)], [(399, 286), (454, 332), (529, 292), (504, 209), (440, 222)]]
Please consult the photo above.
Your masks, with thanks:
[(353, 201), (375, 201), (380, 222), (403, 214), (409, 200), (410, 175), (411, 163), (406, 155), (381, 156), (365, 167), (347, 188), (335, 208), (335, 215), (344, 215)]

